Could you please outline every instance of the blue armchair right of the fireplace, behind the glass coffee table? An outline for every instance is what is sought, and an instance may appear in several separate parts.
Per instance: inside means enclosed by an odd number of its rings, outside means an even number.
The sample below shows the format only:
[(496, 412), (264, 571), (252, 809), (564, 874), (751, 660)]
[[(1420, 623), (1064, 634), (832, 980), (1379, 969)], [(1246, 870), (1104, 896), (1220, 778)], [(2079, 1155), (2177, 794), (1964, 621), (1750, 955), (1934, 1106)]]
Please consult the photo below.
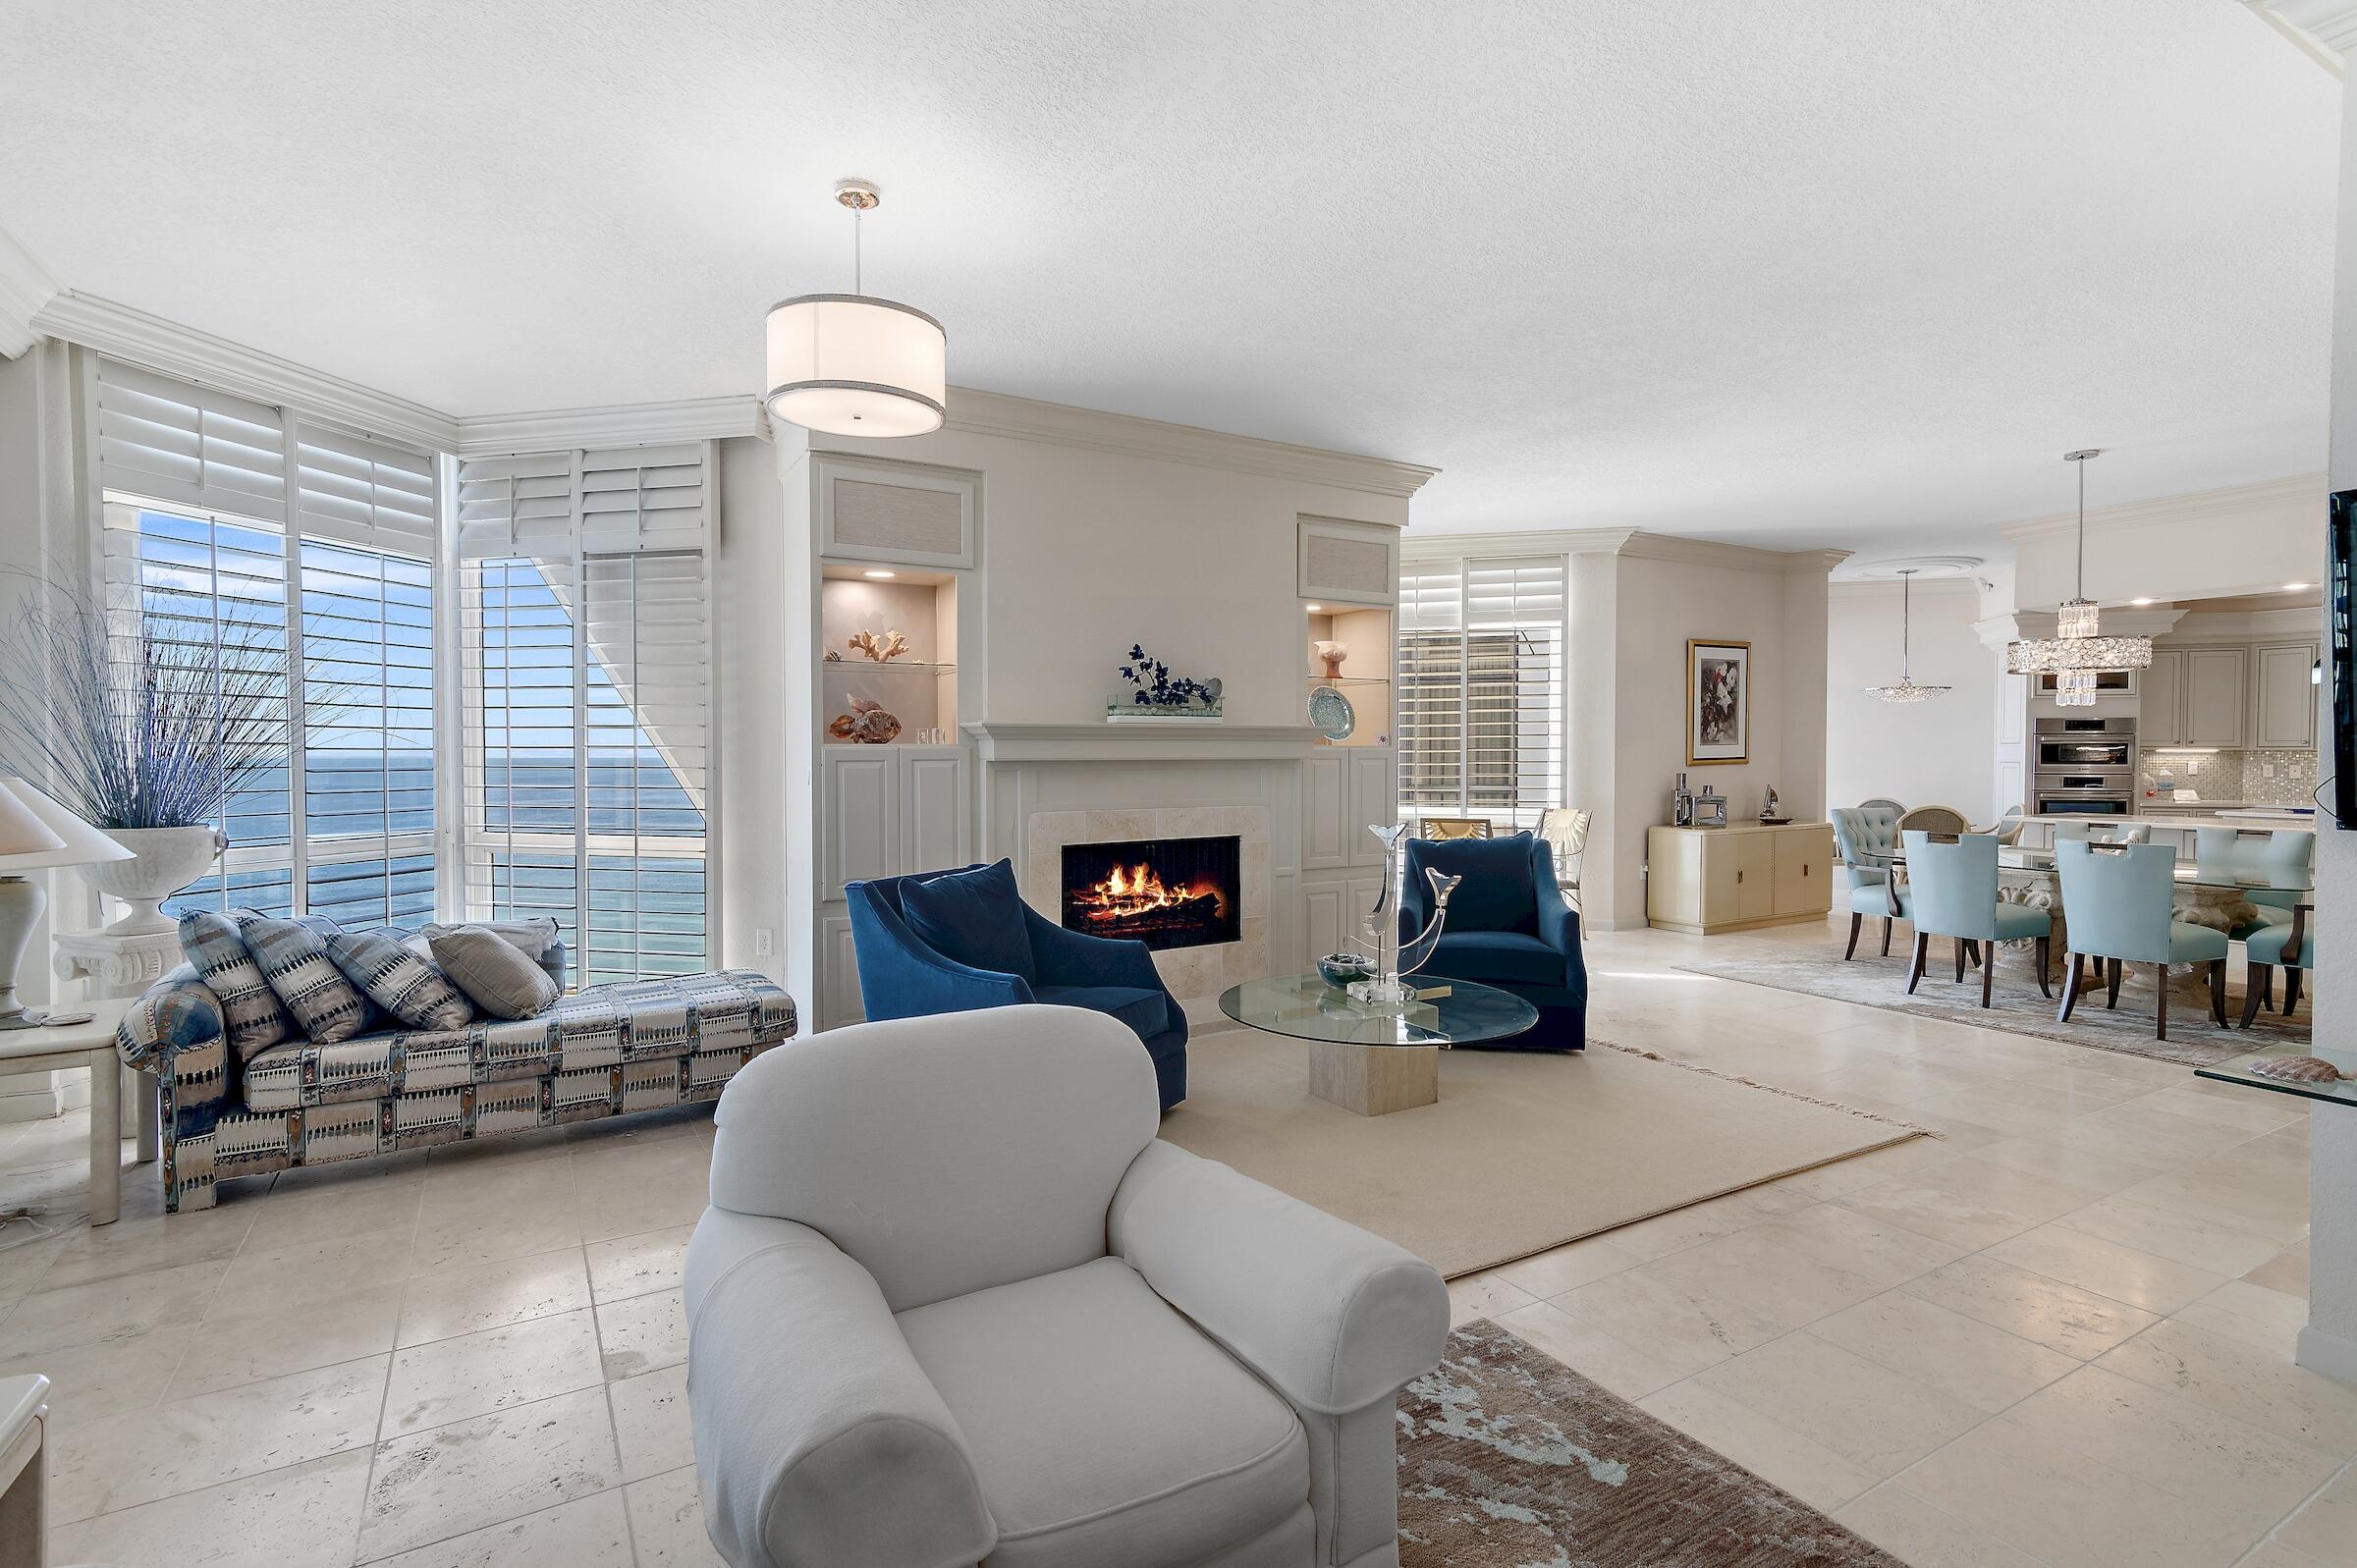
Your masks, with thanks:
[(1433, 917), (1426, 868), (1464, 882), (1450, 894), (1450, 920), (1417, 976), (1497, 986), (1537, 1007), (1539, 1021), (1523, 1035), (1499, 1040), (1499, 1049), (1586, 1049), (1589, 967), (1579, 957), (1579, 913), (1556, 884), (1549, 846), (1527, 832), (1504, 839), (1407, 839), (1400, 941)]

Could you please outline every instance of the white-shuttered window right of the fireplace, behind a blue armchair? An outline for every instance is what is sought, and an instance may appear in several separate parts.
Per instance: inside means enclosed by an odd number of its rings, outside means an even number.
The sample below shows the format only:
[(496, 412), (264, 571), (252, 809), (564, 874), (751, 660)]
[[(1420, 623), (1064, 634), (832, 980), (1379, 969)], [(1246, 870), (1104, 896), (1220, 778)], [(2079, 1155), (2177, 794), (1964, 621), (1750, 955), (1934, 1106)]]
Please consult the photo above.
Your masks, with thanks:
[(1563, 804), (1560, 559), (1400, 571), (1400, 811), (1537, 828)]

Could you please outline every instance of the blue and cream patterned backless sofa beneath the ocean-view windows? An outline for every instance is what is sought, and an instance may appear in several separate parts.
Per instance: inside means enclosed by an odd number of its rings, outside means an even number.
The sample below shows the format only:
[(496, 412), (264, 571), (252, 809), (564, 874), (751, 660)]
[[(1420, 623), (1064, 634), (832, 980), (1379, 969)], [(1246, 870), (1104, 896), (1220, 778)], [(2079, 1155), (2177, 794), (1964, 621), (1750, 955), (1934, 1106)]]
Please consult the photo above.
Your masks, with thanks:
[[(563, 986), (563, 946), (542, 967)], [(794, 1000), (750, 969), (589, 986), (533, 1019), (283, 1040), (236, 1066), (222, 1002), (181, 964), (132, 1002), (123, 1061), (163, 1087), (165, 1212), (214, 1181), (719, 1099), (794, 1035)]]

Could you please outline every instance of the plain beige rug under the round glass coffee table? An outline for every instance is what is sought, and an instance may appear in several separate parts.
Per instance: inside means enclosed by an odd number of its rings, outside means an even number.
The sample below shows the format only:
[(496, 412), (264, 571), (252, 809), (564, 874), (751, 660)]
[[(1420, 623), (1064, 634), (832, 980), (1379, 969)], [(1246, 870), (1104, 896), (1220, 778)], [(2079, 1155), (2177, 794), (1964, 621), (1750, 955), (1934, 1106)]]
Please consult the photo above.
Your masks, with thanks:
[(1442, 1052), (1440, 1103), (1358, 1115), (1308, 1092), (1308, 1045), (1188, 1040), (1162, 1137), (1386, 1236), (1445, 1276), (1506, 1264), (1921, 1129), (1591, 1040)]

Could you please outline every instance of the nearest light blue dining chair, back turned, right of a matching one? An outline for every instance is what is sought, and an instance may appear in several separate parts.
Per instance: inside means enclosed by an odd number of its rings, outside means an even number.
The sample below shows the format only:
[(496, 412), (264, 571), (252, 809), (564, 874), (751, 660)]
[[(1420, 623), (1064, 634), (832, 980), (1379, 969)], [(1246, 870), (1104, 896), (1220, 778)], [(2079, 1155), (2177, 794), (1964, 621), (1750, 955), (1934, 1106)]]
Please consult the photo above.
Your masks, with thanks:
[(2119, 1007), (2121, 964), (2152, 964), (2159, 1002), (2152, 1037), (2168, 1037), (2168, 964), (2209, 964), (2211, 1016), (2225, 1028), (2225, 931), (2176, 917), (2178, 851), (2168, 844), (2091, 844), (2060, 839), (2055, 877), (2062, 882), (2062, 1012), (2079, 1004), (2084, 960), (2095, 960), (2110, 983), (2107, 1007)]

